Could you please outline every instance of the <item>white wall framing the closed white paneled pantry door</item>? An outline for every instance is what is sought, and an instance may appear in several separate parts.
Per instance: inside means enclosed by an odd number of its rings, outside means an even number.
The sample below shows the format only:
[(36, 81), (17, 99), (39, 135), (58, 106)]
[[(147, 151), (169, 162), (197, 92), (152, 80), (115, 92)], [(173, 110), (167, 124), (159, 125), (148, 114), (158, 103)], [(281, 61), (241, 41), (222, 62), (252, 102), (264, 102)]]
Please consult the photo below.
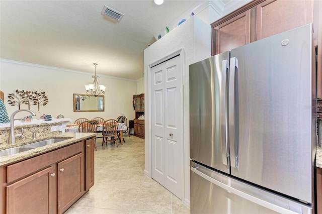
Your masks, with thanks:
[[(211, 56), (211, 27), (198, 17), (192, 17), (144, 50), (145, 103), (150, 103), (149, 70), (152, 65), (169, 59), (182, 51), (183, 58), (183, 143), (184, 143), (184, 198), (190, 206), (190, 158), (189, 158), (189, 65)], [(145, 108), (145, 170), (151, 176), (150, 105)]]

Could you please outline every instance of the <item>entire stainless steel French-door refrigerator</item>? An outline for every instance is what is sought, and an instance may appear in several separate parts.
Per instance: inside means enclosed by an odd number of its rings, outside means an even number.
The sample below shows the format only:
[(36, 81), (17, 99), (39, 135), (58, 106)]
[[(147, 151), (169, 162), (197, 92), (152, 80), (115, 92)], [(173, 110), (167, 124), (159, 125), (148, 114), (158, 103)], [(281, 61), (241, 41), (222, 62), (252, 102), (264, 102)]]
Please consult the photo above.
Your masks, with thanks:
[(190, 65), (191, 213), (313, 213), (312, 25)]

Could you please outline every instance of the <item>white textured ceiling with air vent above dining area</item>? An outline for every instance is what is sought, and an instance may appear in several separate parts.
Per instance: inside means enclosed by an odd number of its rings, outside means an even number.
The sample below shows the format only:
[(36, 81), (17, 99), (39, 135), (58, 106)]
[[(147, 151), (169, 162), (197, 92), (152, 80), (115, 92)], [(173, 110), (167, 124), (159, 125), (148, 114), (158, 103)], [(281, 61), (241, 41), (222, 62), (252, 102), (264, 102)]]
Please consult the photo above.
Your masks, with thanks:
[[(137, 80), (153, 35), (204, 2), (1, 0), (0, 58)], [(105, 5), (125, 16), (102, 16)]]

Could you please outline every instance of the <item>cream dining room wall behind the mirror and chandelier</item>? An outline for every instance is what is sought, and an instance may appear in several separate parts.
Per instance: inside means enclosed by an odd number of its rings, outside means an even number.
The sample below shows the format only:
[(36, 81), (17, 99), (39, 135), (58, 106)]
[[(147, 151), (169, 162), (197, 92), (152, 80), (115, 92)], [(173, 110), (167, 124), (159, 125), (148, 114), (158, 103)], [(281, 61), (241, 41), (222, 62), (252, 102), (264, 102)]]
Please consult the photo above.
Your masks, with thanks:
[[(35, 112), (35, 118), (43, 114), (49, 114), (52, 117), (63, 114), (65, 118), (70, 118), (72, 121), (83, 117), (116, 119), (120, 115), (125, 115), (128, 120), (135, 117), (132, 106), (132, 96), (137, 89), (135, 80), (117, 79), (98, 74), (99, 83), (106, 86), (105, 112), (73, 112), (73, 93), (86, 93), (84, 85), (93, 82), (92, 73), (3, 59), (0, 61), (0, 70), (0, 90), (5, 93), (5, 105), (9, 116), (18, 110), (18, 106), (8, 104), (8, 93), (13, 93), (16, 89), (24, 89), (44, 91), (47, 94), (49, 102), (45, 106), (41, 105), (39, 112), (37, 105), (31, 106), (30, 110)], [(28, 105), (22, 106), (22, 109), (28, 109)], [(26, 113), (22, 113), (22, 116), (25, 115)]]

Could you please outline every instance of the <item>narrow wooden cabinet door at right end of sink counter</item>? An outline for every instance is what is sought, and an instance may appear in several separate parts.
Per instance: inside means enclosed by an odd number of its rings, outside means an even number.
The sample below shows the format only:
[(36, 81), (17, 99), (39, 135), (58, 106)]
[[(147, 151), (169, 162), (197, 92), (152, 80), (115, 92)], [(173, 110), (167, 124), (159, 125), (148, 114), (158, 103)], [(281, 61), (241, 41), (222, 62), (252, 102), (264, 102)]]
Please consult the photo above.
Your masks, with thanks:
[(85, 191), (94, 185), (94, 144), (95, 139), (86, 141)]

